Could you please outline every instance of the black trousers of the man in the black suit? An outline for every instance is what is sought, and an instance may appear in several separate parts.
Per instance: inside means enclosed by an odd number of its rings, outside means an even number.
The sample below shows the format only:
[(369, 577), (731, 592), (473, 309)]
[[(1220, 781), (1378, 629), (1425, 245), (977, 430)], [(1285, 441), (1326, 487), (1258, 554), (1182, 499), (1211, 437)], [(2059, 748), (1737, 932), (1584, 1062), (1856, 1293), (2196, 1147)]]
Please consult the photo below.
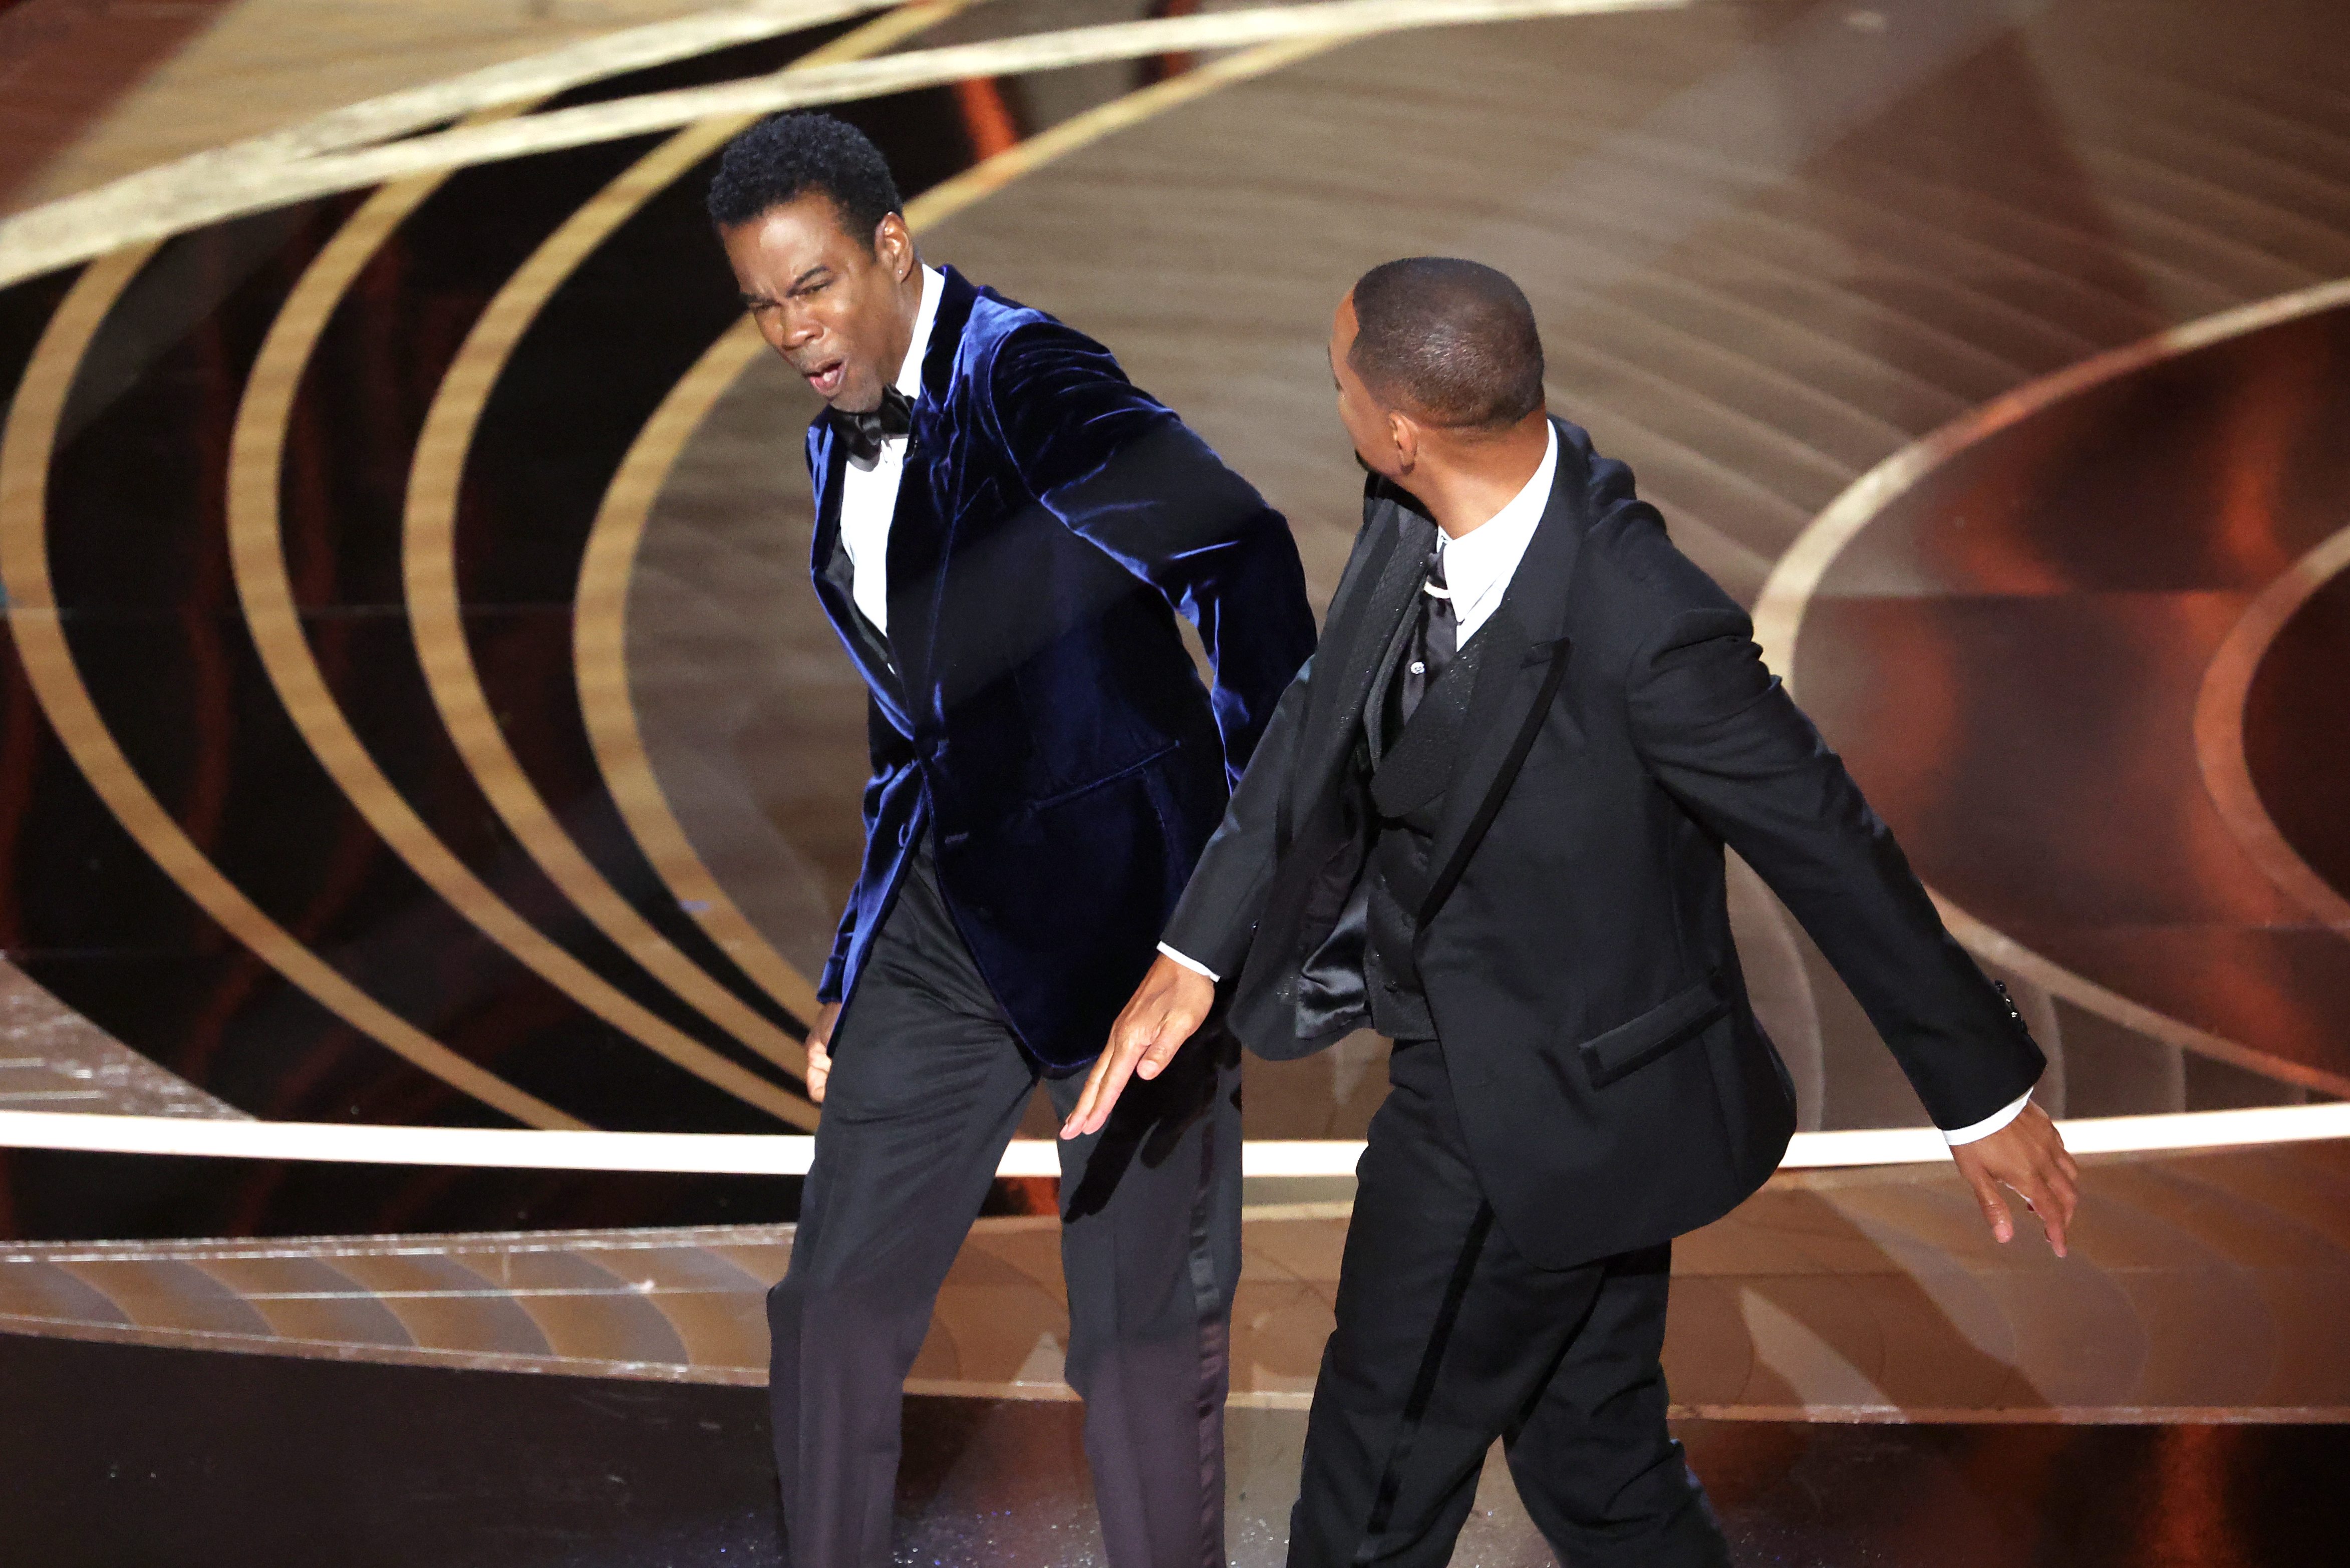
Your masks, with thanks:
[(1572, 1568), (1716, 1568), (1727, 1547), (1664, 1427), (1671, 1246), (1528, 1262), (1469, 1168), (1443, 1048), (1398, 1041), (1307, 1422), (1290, 1568), (1438, 1568), (1502, 1439)]

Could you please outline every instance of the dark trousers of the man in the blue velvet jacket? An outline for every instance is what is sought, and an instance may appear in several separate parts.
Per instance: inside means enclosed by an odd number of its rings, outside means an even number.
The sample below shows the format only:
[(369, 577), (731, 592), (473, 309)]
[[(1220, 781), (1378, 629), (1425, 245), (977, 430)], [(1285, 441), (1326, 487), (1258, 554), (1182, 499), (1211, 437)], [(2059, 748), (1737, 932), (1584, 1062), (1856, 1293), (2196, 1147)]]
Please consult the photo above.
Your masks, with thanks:
[[(792, 1267), (768, 1293), (790, 1561), (891, 1561), (900, 1387), (947, 1265), (1046, 1077), (938, 896), (907, 870), (834, 1034)], [(1067, 1114), (1083, 1072), (1046, 1077)], [(1238, 1051), (1196, 1041), (1060, 1145), (1069, 1385), (1112, 1568), (1222, 1568), (1241, 1272)]]

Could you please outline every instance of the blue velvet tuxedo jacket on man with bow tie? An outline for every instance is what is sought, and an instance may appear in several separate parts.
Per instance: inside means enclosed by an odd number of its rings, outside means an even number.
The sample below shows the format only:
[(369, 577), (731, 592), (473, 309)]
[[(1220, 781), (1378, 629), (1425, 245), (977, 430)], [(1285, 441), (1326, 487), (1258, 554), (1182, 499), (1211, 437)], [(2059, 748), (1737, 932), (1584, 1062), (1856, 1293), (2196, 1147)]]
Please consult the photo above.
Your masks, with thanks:
[(1020, 1041), (1079, 1065), (1314, 651), (1290, 529), (1109, 350), (952, 268), (891, 520), (886, 644), (848, 592), (846, 461), (815, 421), (815, 592), (872, 693), (865, 863), (818, 997), (853, 1011), (931, 835)]

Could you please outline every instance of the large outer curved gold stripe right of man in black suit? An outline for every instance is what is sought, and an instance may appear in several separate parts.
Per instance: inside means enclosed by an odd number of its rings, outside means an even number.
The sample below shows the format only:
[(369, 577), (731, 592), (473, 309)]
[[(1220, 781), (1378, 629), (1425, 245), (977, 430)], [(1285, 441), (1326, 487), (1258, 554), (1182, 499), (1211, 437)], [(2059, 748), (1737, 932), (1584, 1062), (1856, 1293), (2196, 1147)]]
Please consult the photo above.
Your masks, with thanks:
[[(1892, 454), (1854, 480), (1842, 496), (1831, 501), (1828, 508), (1795, 536), (1795, 543), (1779, 557), (1779, 564), (1772, 567), (1770, 581), (1762, 583), (1762, 592), (1753, 609), (1755, 642), (1762, 644), (1762, 656), (1770, 661), (1770, 668), (1779, 672), (1788, 691), (1795, 689), (1795, 646), (1802, 635), (1802, 616), (1812, 604), (1812, 595), (1817, 595), (1819, 585), (1828, 578), (1828, 569), (1845, 552), (1845, 545), (1859, 538), (1861, 529), (1866, 529), (1894, 501), (1894, 496), (1918, 484), (1925, 475), (1941, 468), (1967, 447), (2005, 430), (2007, 425), (2014, 425), (2021, 418), (2028, 418), (2030, 414), (2037, 414), (2040, 409), (2063, 402), (2075, 393), (2084, 393), (2092, 386), (2101, 386), (2117, 376), (2127, 376), (2129, 371), (2160, 364), (2162, 360), (2174, 360), (2211, 343), (2261, 331), (2263, 327), (2331, 310), (2336, 306), (2350, 306), (2350, 277), (2312, 284), (2308, 289), (2294, 289), (2291, 294), (2237, 306), (2235, 310), (2221, 310), (2218, 315), (2207, 315), (2202, 320), (2157, 331), (2136, 343), (2092, 355), (2052, 376), (2012, 388), (1979, 409), (1969, 409), (1967, 414), (1953, 418), (1941, 430), (1934, 430), (1932, 435)], [(2073, 973), (2054, 959), (2040, 957), (2005, 931), (1998, 931), (1988, 922), (1960, 910), (1941, 893), (1934, 893), (1934, 905), (1941, 910), (1943, 924), (1950, 926), (1950, 936), (1955, 936), (1979, 959), (2000, 964), (2033, 985), (2063, 997), (2073, 1006), (2108, 1018), (2124, 1030), (2136, 1030), (2138, 1034), (2148, 1034), (2162, 1044), (2195, 1051), (2197, 1056), (2209, 1056), (2214, 1060), (2258, 1072), (2261, 1077), (2350, 1098), (2350, 1077), (2326, 1072), (2322, 1067), (2305, 1067), (2282, 1056), (2270, 1056), (2268, 1051), (2256, 1051), (2221, 1034), (2211, 1034), (2209, 1030), (2197, 1030), (2195, 1025), (2167, 1013), (2157, 1013), (2155, 1009), (2131, 1001), (2129, 997), (2122, 997), (2087, 976)]]

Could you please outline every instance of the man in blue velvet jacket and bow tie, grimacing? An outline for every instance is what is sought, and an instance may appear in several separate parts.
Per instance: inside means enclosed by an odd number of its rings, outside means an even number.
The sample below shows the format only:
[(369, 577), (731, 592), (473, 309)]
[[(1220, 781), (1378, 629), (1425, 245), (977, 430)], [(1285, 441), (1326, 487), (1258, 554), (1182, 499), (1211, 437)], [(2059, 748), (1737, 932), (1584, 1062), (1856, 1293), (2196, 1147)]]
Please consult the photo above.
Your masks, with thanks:
[[(865, 865), (808, 1034), (825, 1117), (768, 1298), (792, 1561), (853, 1568), (888, 1561), (898, 1392), (1003, 1145), (1039, 1079), (1074, 1107), (1314, 616), (1281, 515), (1100, 343), (924, 266), (853, 127), (754, 125), (710, 216), (830, 404), (815, 592), (872, 691)], [(1067, 1378), (1116, 1568), (1224, 1563), (1238, 1154), (1229, 1046), (1062, 1145)]]

